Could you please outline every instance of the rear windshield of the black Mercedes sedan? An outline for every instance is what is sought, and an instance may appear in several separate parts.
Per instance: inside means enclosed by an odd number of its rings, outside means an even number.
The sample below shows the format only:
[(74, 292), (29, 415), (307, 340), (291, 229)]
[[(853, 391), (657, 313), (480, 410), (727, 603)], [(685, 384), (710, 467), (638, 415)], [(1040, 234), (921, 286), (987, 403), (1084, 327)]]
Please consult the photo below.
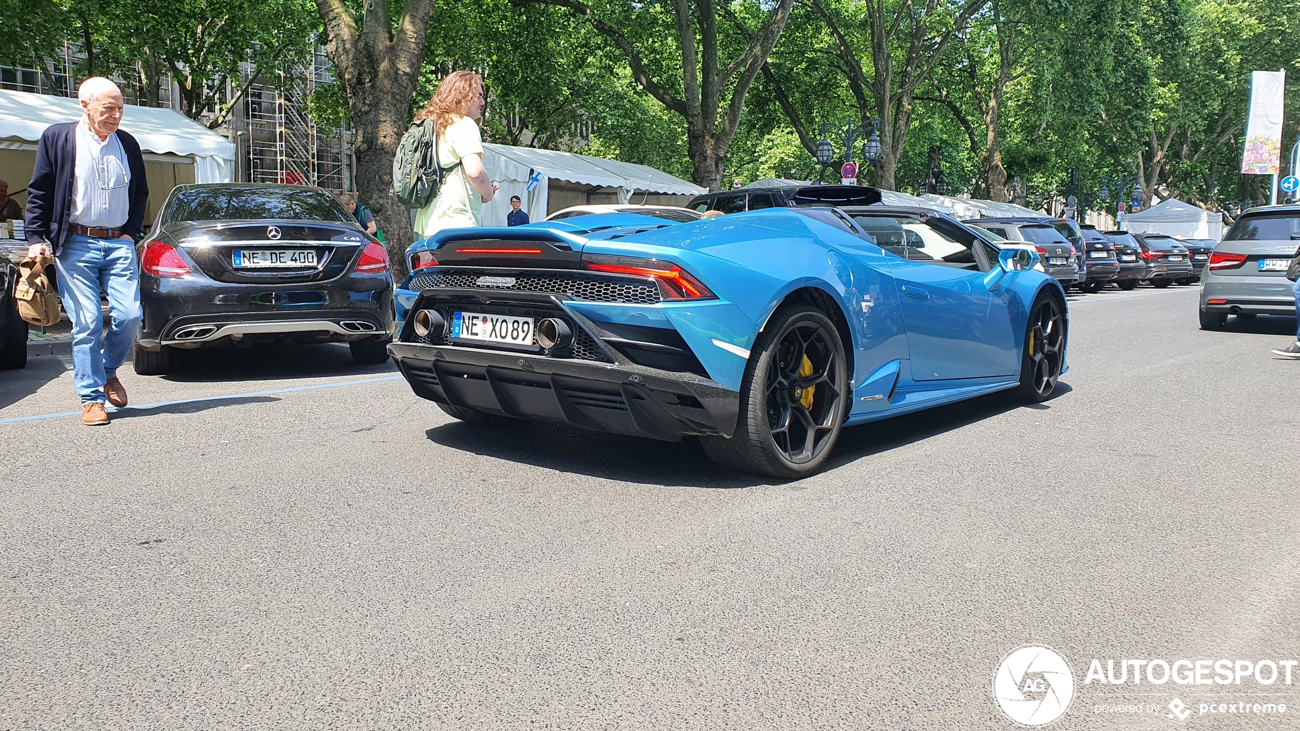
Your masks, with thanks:
[(356, 223), (356, 218), (333, 195), (306, 186), (192, 188), (178, 192), (162, 213), (165, 223), (238, 218)]

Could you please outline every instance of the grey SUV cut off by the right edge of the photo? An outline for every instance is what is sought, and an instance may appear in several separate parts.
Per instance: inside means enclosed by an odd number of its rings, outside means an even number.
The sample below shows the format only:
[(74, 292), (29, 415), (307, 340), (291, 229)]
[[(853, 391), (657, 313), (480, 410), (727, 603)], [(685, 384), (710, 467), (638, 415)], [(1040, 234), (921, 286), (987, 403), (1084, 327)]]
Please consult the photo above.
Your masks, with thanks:
[(1201, 275), (1201, 330), (1222, 330), (1227, 316), (1295, 314), (1287, 265), (1300, 244), (1300, 205), (1252, 208), (1210, 253)]

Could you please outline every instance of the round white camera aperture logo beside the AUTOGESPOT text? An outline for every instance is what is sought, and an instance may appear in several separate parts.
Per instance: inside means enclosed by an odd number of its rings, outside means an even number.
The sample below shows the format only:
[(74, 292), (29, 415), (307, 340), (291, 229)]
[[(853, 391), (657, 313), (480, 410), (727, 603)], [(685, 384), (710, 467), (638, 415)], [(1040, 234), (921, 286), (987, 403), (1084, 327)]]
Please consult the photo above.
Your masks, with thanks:
[(1061, 718), (1070, 708), (1074, 673), (1070, 663), (1050, 648), (1018, 647), (997, 666), (993, 696), (1011, 721), (1044, 726)]

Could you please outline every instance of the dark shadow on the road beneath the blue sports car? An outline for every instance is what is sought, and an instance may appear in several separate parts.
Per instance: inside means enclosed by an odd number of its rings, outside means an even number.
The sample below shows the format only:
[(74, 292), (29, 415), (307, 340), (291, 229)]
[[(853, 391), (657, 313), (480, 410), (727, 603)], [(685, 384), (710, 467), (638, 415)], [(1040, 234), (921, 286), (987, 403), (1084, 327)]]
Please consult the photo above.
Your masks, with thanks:
[[(1071, 390), (1062, 383), (1052, 400)], [(937, 406), (881, 422), (844, 430), (827, 470), (857, 460), (961, 428), (1017, 409), (1023, 404), (1006, 392)], [(1034, 404), (1049, 409), (1046, 404)], [(454, 421), (425, 431), (429, 441), (511, 462), (620, 482), (670, 487), (737, 488), (786, 484), (796, 480), (734, 473), (715, 465), (692, 438), (656, 441), (564, 426), (520, 422), (482, 427)]]

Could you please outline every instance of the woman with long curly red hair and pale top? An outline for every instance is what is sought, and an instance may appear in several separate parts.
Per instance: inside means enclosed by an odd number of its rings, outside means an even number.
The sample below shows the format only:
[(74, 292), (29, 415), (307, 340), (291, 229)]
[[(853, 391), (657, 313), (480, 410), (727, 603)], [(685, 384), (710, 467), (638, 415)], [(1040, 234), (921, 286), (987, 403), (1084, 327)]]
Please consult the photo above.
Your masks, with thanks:
[(416, 212), (415, 230), (421, 236), (443, 229), (480, 226), (482, 204), (497, 192), (484, 169), (484, 143), (478, 131), (485, 103), (478, 74), (452, 71), (415, 116), (416, 122), (434, 118), (438, 164), (446, 171), (438, 196)]

